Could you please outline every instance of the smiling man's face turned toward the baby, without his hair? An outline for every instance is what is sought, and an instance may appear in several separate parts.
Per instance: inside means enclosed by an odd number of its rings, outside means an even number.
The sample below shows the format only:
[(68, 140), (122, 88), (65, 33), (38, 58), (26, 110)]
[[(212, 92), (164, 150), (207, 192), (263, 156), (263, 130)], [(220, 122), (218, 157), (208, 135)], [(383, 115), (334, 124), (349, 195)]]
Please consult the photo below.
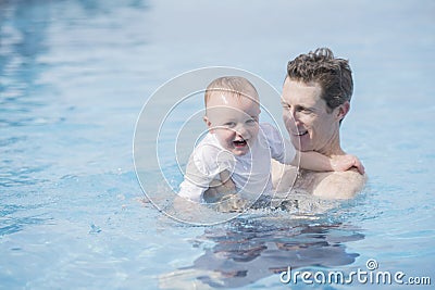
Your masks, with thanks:
[(339, 108), (328, 113), (319, 84), (290, 80), (283, 87), (283, 118), (291, 143), (299, 151), (328, 154), (339, 142)]

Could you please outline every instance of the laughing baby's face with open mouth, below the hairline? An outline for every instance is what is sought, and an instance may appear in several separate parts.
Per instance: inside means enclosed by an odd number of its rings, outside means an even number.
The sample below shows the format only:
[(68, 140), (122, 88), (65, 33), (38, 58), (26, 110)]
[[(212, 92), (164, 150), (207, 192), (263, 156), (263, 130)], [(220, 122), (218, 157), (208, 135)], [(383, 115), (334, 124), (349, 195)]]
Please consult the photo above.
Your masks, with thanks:
[[(252, 94), (250, 94), (252, 96)], [(213, 92), (204, 121), (223, 148), (240, 156), (249, 152), (259, 133), (260, 104), (257, 94), (234, 96)]]

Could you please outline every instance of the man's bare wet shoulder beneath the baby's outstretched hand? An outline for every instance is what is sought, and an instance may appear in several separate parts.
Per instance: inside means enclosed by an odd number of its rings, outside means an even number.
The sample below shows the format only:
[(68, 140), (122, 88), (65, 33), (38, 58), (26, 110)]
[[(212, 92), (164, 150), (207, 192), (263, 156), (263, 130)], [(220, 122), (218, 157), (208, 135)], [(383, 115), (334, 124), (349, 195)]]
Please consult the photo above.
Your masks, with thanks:
[(315, 173), (313, 194), (326, 199), (351, 199), (363, 189), (366, 178), (357, 169)]

